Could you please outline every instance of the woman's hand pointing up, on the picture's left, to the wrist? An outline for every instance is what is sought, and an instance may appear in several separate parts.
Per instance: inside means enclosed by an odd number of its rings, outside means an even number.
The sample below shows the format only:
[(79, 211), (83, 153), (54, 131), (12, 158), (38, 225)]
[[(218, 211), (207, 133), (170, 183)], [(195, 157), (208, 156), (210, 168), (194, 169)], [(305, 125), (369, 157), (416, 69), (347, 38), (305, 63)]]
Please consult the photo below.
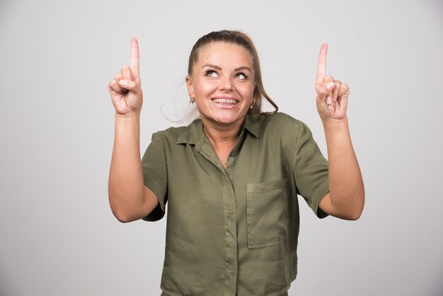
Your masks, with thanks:
[(115, 112), (120, 115), (139, 113), (142, 109), (143, 92), (139, 74), (139, 43), (131, 39), (131, 66), (123, 66), (108, 84)]

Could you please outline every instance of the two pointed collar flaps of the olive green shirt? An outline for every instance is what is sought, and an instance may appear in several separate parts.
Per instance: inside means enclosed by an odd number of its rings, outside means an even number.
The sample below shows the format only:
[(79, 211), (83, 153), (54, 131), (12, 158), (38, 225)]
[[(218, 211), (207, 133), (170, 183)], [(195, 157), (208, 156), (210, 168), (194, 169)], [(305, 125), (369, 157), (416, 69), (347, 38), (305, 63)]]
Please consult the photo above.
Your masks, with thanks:
[[(264, 116), (260, 115), (258, 118), (249, 113), (246, 114), (243, 122), (242, 130), (248, 130), (254, 137), (258, 138), (260, 123)], [(203, 131), (202, 120), (196, 119), (190, 123), (185, 130), (178, 135), (177, 144), (195, 144), (205, 140), (205, 132)]]

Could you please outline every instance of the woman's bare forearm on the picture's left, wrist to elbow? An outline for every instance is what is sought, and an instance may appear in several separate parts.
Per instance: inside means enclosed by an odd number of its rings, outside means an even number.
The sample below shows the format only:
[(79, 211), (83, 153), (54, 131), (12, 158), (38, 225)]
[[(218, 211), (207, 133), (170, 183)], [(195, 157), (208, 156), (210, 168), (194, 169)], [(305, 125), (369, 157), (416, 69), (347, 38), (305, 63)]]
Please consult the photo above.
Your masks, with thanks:
[(110, 207), (122, 222), (138, 219), (144, 205), (139, 130), (139, 113), (115, 114), (115, 140), (108, 190)]

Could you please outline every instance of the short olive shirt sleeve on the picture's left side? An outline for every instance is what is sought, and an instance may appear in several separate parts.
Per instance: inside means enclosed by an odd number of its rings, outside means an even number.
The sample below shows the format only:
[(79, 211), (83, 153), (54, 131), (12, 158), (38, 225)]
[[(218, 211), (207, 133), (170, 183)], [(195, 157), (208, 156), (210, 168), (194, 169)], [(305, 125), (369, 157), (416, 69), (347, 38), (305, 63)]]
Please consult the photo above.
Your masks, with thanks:
[(157, 221), (165, 215), (165, 205), (168, 200), (166, 190), (168, 187), (168, 174), (166, 167), (165, 144), (159, 133), (152, 135), (149, 144), (142, 158), (142, 170), (144, 186), (151, 189), (159, 200), (152, 212), (143, 218), (145, 221)]

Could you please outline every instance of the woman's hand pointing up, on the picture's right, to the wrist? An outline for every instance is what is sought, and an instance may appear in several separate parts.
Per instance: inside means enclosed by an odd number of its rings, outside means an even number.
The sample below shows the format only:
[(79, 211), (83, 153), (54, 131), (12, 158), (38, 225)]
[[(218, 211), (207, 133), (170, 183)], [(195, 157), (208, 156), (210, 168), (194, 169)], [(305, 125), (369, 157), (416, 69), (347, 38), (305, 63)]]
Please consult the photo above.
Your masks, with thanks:
[(341, 81), (326, 76), (326, 53), (328, 45), (321, 46), (318, 55), (316, 91), (317, 110), (321, 120), (342, 120), (346, 118), (349, 87)]

